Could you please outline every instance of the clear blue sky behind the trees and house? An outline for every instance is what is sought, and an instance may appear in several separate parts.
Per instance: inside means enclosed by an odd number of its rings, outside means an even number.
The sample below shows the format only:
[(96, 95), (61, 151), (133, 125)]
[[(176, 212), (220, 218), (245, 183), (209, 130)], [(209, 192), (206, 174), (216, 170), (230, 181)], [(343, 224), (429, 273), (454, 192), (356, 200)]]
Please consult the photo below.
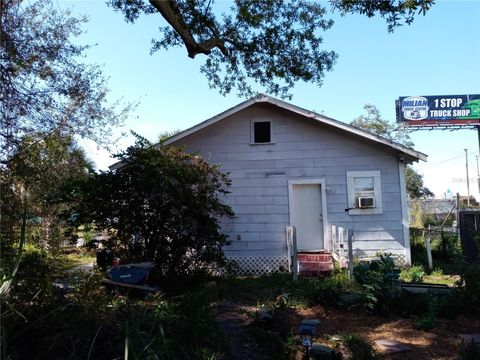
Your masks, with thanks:
[[(228, 6), (226, 1), (218, 3)], [(188, 128), (244, 100), (209, 89), (199, 72), (202, 56), (192, 60), (183, 48), (150, 55), (151, 39), (164, 25), (160, 15), (127, 24), (122, 14), (100, 0), (59, 1), (58, 6), (90, 17), (78, 41), (96, 44), (85, 61), (103, 67), (112, 101), (120, 97), (140, 101), (127, 130), (155, 141), (165, 130)], [(393, 34), (381, 18), (338, 14), (332, 18), (335, 25), (324, 33), (324, 44), (339, 59), (322, 87), (299, 83), (292, 91), (293, 104), (350, 122), (370, 103), (394, 121), (400, 96), (480, 93), (480, 1), (437, 0), (425, 17), (418, 16), (411, 26)], [(475, 130), (417, 131), (411, 137), (416, 149), (429, 155), (427, 163), (415, 168), (437, 196), (447, 189), (466, 194), (464, 149), (468, 149), (470, 193), (479, 197)], [(130, 142), (126, 139), (122, 146)], [(113, 162), (85, 145), (99, 168)]]

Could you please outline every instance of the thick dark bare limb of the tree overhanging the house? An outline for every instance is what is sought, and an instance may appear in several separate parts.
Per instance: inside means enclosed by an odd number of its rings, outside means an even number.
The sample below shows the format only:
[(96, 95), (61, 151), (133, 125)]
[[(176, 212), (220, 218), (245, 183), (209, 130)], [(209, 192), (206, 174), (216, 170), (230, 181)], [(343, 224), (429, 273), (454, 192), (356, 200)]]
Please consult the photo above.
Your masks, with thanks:
[(192, 59), (198, 54), (209, 55), (213, 48), (218, 48), (225, 56), (228, 55), (224, 41), (217, 36), (202, 43), (195, 40), (189, 26), (185, 23), (176, 0), (150, 0), (150, 4), (177, 32), (187, 48), (188, 56)]

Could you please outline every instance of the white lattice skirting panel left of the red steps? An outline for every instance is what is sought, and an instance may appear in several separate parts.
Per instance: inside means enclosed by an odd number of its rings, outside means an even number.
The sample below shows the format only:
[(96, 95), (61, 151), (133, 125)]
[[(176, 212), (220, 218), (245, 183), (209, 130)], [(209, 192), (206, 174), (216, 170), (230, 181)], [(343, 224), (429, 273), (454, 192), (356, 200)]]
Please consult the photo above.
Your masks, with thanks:
[(288, 271), (286, 256), (229, 256), (237, 264), (238, 275), (264, 275)]

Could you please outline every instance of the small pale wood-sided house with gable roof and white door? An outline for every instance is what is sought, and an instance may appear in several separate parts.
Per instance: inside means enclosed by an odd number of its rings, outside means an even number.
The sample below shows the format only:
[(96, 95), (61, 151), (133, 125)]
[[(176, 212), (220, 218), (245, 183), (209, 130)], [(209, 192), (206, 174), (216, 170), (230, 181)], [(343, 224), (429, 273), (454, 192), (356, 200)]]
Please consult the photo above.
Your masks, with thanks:
[(356, 256), (410, 262), (404, 170), (423, 153), (263, 94), (164, 144), (229, 174), (236, 216), (222, 224), (225, 252), (246, 272), (287, 266), (289, 225), (299, 250), (331, 251), (334, 225), (353, 231)]

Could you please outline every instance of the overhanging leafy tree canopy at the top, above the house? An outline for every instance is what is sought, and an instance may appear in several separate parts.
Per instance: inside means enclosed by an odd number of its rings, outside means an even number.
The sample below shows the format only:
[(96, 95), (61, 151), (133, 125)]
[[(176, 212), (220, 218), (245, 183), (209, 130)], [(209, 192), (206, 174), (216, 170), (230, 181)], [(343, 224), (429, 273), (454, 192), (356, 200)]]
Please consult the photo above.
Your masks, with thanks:
[[(166, 26), (153, 41), (152, 52), (184, 46), (188, 56), (206, 55), (200, 71), (210, 87), (222, 94), (236, 89), (251, 96), (247, 79), (268, 93), (287, 97), (297, 81), (321, 85), (338, 55), (322, 48), (321, 31), (333, 26), (320, 2), (305, 0), (236, 0), (229, 11), (214, 1), (107, 0), (128, 22), (140, 15), (160, 14)], [(433, 0), (330, 0), (342, 15), (360, 13), (384, 17), (388, 30), (411, 24)]]

